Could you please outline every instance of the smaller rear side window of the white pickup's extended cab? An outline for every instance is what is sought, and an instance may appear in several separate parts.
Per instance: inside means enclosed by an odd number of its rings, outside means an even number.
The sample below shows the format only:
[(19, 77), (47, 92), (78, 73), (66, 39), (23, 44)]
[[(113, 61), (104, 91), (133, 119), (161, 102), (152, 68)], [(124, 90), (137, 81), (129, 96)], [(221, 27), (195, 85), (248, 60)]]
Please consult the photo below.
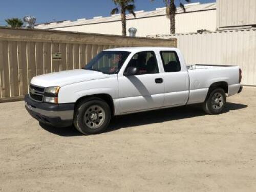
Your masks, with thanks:
[(181, 70), (180, 60), (175, 51), (161, 51), (160, 54), (165, 72), (178, 72)]

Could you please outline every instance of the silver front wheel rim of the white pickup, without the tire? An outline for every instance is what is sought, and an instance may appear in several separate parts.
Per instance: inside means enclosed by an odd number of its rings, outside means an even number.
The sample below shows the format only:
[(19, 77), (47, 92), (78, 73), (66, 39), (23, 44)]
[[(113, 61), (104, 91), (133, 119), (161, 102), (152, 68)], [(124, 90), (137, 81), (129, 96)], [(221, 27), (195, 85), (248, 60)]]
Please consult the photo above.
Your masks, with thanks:
[(90, 129), (98, 129), (105, 120), (105, 111), (99, 105), (92, 105), (84, 113), (84, 123)]

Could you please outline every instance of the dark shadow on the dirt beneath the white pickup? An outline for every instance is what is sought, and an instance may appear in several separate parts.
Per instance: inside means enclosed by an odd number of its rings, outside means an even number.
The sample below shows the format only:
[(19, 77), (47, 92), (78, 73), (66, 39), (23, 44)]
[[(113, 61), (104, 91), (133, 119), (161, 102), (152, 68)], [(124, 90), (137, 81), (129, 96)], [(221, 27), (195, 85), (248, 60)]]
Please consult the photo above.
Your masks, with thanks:
[[(248, 105), (245, 104), (238, 104), (238, 103), (230, 103), (227, 102), (226, 108), (223, 113), (227, 113), (233, 110), (240, 110), (247, 108)], [(197, 116), (205, 116), (207, 114), (204, 113), (202, 110), (201, 105), (188, 105), (188, 106), (180, 106), (177, 108), (168, 108), (162, 110), (154, 110), (130, 115), (123, 115), (114, 117), (110, 123), (109, 129), (105, 132), (112, 132), (115, 130), (132, 127), (132, 126), (139, 126), (139, 125), (146, 125), (152, 123), (161, 123), (164, 121), (172, 121), (172, 120), (179, 120), (179, 119), (186, 119), (191, 117)], [(39, 123), (42, 129), (59, 135), (63, 137), (74, 137), (74, 136), (81, 136), (74, 126), (70, 127), (53, 127), (50, 125), (45, 125)]]

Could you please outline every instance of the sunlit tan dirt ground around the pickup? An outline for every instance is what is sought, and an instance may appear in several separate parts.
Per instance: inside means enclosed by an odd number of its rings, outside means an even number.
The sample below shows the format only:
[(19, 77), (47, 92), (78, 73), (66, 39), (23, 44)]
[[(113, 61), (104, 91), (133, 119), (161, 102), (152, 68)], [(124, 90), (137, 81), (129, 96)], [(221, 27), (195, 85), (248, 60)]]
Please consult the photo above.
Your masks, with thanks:
[(126, 115), (93, 136), (40, 126), (23, 101), (1, 103), (0, 131), (0, 191), (256, 191), (256, 88), (221, 115)]

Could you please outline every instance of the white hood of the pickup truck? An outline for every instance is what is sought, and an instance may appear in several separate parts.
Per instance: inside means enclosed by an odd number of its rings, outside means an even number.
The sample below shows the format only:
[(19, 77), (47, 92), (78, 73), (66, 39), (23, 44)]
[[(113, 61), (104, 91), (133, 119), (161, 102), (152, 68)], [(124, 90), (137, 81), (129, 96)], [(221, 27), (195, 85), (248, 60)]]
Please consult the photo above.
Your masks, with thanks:
[(84, 69), (68, 70), (33, 77), (31, 84), (40, 87), (62, 87), (76, 82), (109, 78), (110, 75)]

